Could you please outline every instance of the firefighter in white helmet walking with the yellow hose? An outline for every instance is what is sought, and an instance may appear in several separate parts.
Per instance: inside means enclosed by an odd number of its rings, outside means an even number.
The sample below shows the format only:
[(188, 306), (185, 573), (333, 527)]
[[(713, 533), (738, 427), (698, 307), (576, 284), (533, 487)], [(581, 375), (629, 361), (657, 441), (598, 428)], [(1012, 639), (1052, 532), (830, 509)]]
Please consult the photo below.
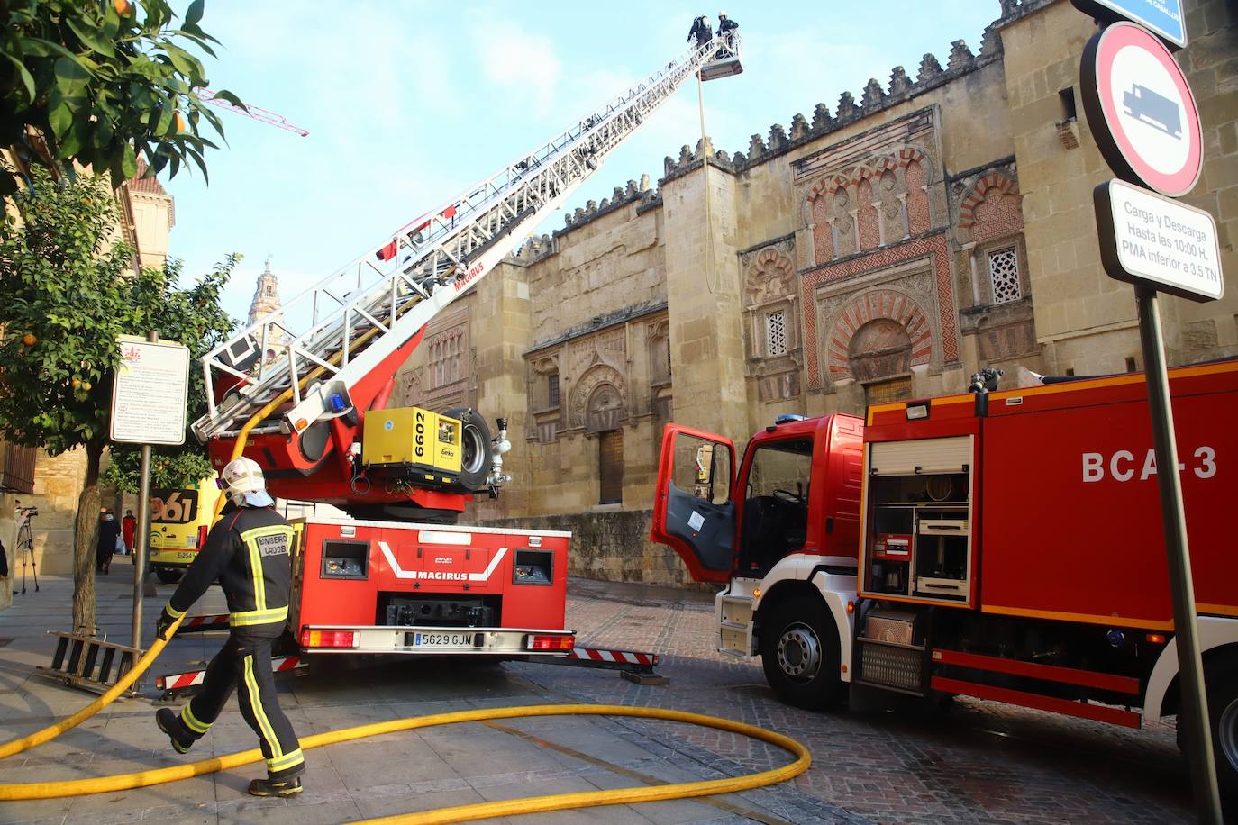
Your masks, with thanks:
[(207, 667), (202, 690), (181, 709), (155, 714), (177, 753), (186, 753), (219, 716), (239, 685), (240, 712), (261, 743), (266, 779), (254, 779), (255, 797), (301, 793), (305, 757), (292, 724), (280, 709), (271, 675), (271, 644), (284, 633), (292, 583), (292, 527), (274, 510), (258, 463), (239, 458), (224, 468), (228, 497), (223, 517), (189, 565), (158, 618), (158, 636), (183, 616), (217, 579), (228, 597), (232, 632)]

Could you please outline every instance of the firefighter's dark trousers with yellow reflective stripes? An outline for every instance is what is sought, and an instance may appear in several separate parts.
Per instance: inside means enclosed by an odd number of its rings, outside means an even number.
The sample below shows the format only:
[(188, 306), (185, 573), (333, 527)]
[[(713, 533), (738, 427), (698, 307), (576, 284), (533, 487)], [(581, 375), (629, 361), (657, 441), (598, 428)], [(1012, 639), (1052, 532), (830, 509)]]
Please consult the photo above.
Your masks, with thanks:
[(274, 638), (232, 633), (207, 665), (202, 690), (181, 709), (181, 722), (193, 741), (202, 738), (240, 685), (240, 714), (258, 733), (266, 772), (272, 779), (301, 773), (305, 757), (292, 724), (280, 709), (271, 674)]

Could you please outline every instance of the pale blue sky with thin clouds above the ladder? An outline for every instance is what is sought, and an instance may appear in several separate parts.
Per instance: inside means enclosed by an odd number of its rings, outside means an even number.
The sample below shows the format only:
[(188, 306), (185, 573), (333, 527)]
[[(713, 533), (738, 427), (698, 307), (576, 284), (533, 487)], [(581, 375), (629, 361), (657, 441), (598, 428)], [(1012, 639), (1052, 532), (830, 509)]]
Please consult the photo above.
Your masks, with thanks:
[[(187, 4), (181, 4), (187, 5)], [(202, 26), (223, 43), (212, 88), (277, 111), (308, 137), (222, 113), (228, 145), (207, 156), (210, 183), (186, 172), (171, 252), (193, 277), (245, 256), (225, 296), (244, 318), (267, 255), (287, 301), (412, 218), (543, 142), (687, 46), (692, 17), (718, 7), (623, 4), (212, 0)], [(870, 77), (915, 78), (925, 52), (979, 52), (997, 0), (740, 2), (743, 74), (704, 85), (714, 147), (857, 100)], [(577, 193), (600, 200), (699, 137), (696, 84), (675, 98)], [(563, 225), (556, 214), (539, 231)]]

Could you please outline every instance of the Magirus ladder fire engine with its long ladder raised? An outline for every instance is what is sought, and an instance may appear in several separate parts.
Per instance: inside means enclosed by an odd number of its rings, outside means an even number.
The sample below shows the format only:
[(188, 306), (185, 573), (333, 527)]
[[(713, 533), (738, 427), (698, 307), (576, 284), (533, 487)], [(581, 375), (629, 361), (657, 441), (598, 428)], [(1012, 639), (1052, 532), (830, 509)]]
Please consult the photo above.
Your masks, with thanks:
[[(690, 78), (743, 71), (716, 38), (384, 237), (203, 357), (212, 464), (348, 518), (298, 518), (290, 630), (307, 653), (571, 653), (569, 534), (458, 524), (510, 481), (506, 421), (390, 407), (427, 323), (519, 247)], [(187, 621), (187, 627), (209, 622)]]

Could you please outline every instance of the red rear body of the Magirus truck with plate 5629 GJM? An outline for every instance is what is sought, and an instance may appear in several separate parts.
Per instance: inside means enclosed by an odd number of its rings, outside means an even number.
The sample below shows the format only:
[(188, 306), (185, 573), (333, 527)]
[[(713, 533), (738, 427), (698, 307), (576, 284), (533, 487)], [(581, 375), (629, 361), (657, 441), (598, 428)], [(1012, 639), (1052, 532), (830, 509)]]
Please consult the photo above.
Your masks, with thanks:
[(563, 654), (569, 533), (302, 518), (290, 627), (312, 653)]

